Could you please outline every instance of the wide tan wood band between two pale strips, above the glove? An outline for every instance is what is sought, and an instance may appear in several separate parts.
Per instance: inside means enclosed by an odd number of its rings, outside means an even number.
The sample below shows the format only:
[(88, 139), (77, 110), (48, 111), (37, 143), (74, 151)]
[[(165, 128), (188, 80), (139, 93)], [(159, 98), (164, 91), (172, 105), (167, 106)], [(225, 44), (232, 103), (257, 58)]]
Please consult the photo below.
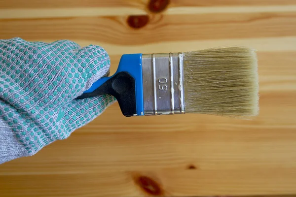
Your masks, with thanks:
[(0, 20), (0, 34), (3, 38), (20, 36), (28, 40), (87, 37), (126, 46), (160, 41), (296, 36), (295, 26), (296, 13), (157, 15), (141, 31), (128, 27), (126, 17), (80, 17)]

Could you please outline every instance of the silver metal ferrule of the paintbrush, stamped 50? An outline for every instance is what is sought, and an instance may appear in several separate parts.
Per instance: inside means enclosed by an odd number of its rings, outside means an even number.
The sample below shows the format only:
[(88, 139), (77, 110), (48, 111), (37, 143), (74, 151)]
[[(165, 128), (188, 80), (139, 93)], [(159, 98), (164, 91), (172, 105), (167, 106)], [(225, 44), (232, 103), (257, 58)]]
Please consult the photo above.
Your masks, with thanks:
[(183, 53), (143, 54), (145, 115), (184, 114)]

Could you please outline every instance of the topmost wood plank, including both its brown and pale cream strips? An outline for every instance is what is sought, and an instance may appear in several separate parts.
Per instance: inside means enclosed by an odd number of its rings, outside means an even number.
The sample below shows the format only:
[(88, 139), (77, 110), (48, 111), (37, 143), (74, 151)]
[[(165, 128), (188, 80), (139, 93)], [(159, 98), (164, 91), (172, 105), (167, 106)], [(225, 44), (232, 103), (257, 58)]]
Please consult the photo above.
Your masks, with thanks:
[[(3, 3), (1, 3), (3, 1)], [(149, 0), (0, 0), (0, 18), (59, 18), (152, 14)], [(171, 0), (162, 15), (295, 12), (294, 0)]]

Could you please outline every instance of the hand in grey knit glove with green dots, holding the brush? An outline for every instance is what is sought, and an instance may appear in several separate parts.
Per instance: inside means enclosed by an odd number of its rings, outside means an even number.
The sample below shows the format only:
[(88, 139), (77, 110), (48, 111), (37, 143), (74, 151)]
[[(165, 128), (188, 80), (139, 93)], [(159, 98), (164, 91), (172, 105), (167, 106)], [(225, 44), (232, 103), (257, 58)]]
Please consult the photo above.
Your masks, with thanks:
[(113, 97), (75, 98), (109, 67), (99, 46), (0, 40), (0, 164), (34, 155), (100, 115)]

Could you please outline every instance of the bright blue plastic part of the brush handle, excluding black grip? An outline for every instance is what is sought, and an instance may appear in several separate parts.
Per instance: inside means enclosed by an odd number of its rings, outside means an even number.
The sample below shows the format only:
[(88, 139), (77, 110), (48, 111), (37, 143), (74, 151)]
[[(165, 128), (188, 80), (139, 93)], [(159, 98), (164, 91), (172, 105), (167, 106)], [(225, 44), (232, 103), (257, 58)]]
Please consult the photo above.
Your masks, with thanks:
[[(128, 73), (135, 80), (135, 95), (136, 95), (136, 114), (134, 116), (144, 115), (144, 97), (143, 97), (143, 73), (142, 73), (142, 54), (126, 54), (120, 59), (117, 71), (111, 77), (103, 77), (93, 83), (93, 85), (83, 95), (89, 95), (100, 89), (104, 84), (108, 83), (113, 77), (118, 76), (118, 73)], [(82, 96), (83, 96), (82, 95)], [(86, 97), (82, 97), (86, 98)], [(120, 104), (120, 103), (119, 103)], [(124, 104), (124, 103), (123, 103)]]

